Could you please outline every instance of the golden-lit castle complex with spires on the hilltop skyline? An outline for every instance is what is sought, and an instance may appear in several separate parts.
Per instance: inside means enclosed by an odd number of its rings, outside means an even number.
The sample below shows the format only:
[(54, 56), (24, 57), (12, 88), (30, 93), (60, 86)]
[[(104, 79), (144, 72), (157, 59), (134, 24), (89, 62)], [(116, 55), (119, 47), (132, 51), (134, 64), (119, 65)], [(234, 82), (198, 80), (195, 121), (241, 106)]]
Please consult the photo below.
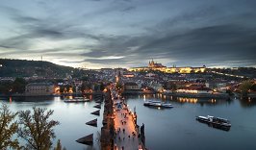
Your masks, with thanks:
[(132, 67), (129, 68), (129, 71), (149, 71), (149, 70), (158, 70), (165, 73), (199, 73), (205, 72), (206, 66), (203, 65), (202, 67), (192, 67), (192, 66), (185, 66), (185, 67), (166, 67), (162, 63), (155, 63), (153, 60), (148, 63), (148, 66), (141, 66), (141, 67)]

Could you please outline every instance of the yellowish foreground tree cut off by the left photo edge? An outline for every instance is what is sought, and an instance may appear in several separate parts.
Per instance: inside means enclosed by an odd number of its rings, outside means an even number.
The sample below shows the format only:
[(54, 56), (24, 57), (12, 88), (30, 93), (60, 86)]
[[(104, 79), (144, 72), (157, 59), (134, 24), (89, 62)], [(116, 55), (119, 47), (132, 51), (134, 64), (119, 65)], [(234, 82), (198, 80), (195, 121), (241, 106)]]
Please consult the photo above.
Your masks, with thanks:
[(13, 139), (18, 124), (13, 121), (17, 113), (10, 112), (6, 105), (0, 108), (0, 149), (19, 149), (17, 139)]

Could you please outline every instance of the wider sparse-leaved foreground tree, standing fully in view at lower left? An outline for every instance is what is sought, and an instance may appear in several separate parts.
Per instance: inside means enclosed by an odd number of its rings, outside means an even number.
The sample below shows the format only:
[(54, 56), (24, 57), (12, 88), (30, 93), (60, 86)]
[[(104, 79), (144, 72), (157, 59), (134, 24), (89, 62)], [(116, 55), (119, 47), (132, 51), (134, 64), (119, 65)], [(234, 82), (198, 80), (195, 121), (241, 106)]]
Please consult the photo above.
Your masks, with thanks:
[(53, 127), (60, 123), (49, 120), (53, 114), (50, 110), (33, 108), (33, 113), (29, 110), (19, 112), (18, 136), (27, 141), (26, 148), (46, 150), (52, 147), (52, 139), (55, 138)]

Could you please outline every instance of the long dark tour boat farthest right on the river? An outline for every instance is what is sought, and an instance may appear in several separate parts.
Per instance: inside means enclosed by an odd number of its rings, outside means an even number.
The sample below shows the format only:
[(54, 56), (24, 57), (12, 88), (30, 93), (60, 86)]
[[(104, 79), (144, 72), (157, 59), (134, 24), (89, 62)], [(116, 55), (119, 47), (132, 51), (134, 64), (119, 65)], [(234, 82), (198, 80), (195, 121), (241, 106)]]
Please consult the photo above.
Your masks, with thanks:
[(196, 120), (207, 123), (209, 126), (228, 131), (231, 127), (229, 120), (221, 117), (215, 117), (211, 115), (207, 116), (196, 116)]

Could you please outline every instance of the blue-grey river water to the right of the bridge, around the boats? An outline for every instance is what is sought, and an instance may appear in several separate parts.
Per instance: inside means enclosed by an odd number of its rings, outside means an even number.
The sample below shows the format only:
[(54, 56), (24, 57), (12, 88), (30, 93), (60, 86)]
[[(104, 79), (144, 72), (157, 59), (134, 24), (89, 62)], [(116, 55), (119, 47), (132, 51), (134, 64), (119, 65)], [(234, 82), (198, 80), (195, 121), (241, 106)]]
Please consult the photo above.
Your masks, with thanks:
[[(255, 149), (255, 116), (256, 107), (252, 99), (213, 99), (213, 98), (186, 98), (166, 95), (166, 103), (171, 103), (174, 109), (161, 110), (143, 106), (143, 97), (146, 100), (165, 100), (160, 94), (129, 95), (127, 103), (136, 106), (138, 123), (145, 124), (146, 146), (148, 149)], [(130, 98), (133, 97), (133, 98)], [(201, 107), (203, 106), (203, 107)], [(245, 111), (244, 111), (245, 110)], [(214, 115), (228, 118), (231, 128), (218, 127), (213, 124), (196, 122), (194, 116)], [(209, 126), (209, 127), (208, 127)], [(228, 133), (223, 132), (228, 131)], [(189, 134), (188, 134), (189, 133)], [(237, 142), (237, 141), (241, 142)], [(170, 142), (171, 141), (171, 142)], [(186, 142), (186, 144), (184, 144)], [(243, 142), (243, 144), (241, 144)], [(198, 143), (200, 143), (198, 147)], [(232, 143), (232, 144), (230, 144)], [(210, 146), (209, 145), (214, 145)]]

